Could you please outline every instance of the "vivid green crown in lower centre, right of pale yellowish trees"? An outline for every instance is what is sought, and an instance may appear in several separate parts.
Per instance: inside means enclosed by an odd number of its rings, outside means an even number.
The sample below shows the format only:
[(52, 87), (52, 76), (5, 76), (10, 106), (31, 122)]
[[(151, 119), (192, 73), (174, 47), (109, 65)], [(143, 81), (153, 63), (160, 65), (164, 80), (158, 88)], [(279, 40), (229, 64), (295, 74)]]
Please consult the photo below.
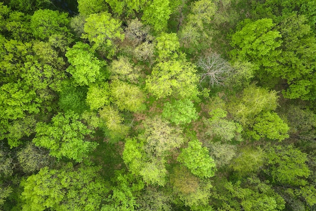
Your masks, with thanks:
[(183, 163), (192, 174), (200, 178), (213, 177), (216, 165), (208, 153), (207, 148), (202, 147), (202, 143), (199, 140), (189, 141), (188, 147), (182, 149), (177, 161)]

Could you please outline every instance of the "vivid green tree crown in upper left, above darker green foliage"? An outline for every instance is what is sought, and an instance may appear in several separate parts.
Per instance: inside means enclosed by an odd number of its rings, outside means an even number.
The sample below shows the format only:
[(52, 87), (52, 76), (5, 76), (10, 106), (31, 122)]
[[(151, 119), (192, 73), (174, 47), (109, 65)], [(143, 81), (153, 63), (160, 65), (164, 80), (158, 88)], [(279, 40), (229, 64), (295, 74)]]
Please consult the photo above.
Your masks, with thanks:
[(103, 62), (94, 57), (88, 44), (77, 42), (65, 56), (71, 64), (66, 71), (73, 75), (79, 85), (88, 85), (100, 75)]

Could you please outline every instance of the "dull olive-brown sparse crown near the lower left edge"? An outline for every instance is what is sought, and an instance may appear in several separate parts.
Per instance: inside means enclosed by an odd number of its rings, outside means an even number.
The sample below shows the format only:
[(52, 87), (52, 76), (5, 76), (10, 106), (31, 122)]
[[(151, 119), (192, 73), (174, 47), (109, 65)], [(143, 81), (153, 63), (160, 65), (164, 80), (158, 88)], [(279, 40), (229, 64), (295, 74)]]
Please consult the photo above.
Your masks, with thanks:
[(51, 163), (48, 151), (36, 147), (33, 143), (28, 143), (17, 153), (17, 159), (24, 173), (33, 173)]

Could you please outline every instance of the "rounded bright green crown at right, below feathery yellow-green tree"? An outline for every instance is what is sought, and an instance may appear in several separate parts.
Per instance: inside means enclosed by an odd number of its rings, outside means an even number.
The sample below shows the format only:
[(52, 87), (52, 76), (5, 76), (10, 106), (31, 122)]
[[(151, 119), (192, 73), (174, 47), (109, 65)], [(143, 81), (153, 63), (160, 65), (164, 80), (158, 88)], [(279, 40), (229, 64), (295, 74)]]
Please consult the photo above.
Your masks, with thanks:
[(266, 112), (255, 118), (253, 130), (256, 133), (253, 134), (253, 138), (257, 140), (261, 137), (267, 137), (282, 141), (289, 137), (289, 126), (275, 112)]

